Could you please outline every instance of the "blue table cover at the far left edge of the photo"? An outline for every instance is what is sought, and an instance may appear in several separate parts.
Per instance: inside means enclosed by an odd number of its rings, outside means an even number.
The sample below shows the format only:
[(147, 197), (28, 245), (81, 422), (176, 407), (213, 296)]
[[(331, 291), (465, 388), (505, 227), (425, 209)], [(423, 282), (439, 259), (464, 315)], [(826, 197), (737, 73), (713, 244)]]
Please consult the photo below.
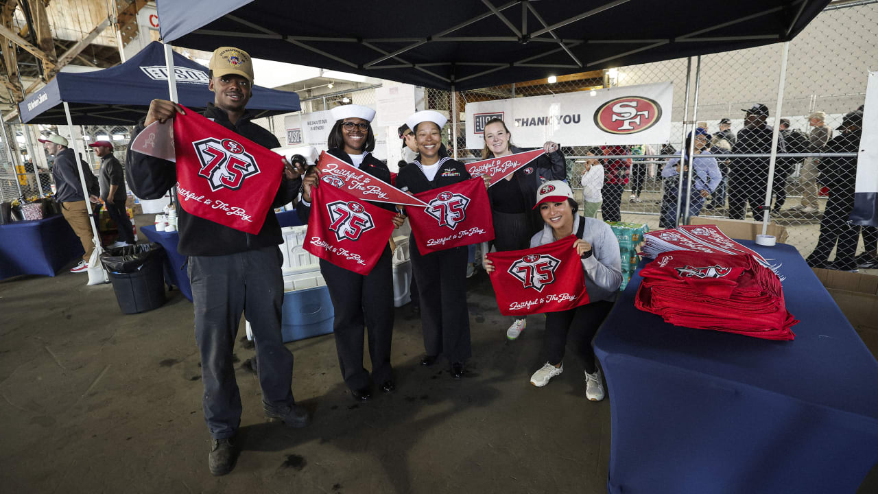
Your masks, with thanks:
[(61, 214), (0, 225), (0, 280), (21, 274), (54, 276), (83, 253), (83, 244)]

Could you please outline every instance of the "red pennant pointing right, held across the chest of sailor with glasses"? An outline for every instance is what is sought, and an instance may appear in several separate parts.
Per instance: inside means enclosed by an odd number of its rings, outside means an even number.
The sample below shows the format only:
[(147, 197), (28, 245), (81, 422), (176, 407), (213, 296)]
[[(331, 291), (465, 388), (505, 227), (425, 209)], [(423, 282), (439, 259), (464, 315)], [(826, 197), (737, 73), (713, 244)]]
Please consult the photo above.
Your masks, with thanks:
[(358, 199), (403, 206), (425, 206), (421, 200), (400, 191), (384, 180), (378, 180), (369, 173), (344, 163), (326, 151), (320, 153), (317, 167), (320, 171), (320, 180), (335, 185)]

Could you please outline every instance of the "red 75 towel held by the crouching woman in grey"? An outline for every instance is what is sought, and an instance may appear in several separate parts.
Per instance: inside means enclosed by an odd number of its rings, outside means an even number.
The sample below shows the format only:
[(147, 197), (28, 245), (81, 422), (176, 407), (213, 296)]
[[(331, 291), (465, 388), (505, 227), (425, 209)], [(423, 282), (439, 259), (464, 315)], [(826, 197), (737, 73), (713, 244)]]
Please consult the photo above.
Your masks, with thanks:
[(492, 252), (491, 285), (503, 316), (558, 312), (588, 303), (576, 236), (522, 251)]

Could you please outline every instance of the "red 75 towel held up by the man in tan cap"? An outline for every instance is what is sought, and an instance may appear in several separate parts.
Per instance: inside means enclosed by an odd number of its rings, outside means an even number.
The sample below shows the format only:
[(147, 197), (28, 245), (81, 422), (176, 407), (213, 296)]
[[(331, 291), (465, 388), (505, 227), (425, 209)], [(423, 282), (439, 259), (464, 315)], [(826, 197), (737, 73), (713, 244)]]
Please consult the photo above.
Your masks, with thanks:
[(174, 148), (180, 206), (258, 234), (277, 195), (283, 157), (188, 108), (174, 118)]

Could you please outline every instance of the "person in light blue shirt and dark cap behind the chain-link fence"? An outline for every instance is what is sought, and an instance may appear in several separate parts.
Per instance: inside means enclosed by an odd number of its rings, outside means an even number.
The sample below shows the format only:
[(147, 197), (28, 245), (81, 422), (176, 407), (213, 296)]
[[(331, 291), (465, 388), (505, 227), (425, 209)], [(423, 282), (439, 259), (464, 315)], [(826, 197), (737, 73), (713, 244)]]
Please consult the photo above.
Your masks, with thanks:
[[(709, 151), (710, 134), (702, 127), (696, 128), (694, 134), (694, 143), (690, 132), (683, 149), (680, 150), (680, 157), (669, 159), (661, 171), (661, 176), (665, 180), (665, 193), (662, 196), (659, 228), (673, 229), (678, 226), (680, 215), (677, 214), (677, 197), (680, 190), (680, 173), (683, 174), (680, 207), (686, 207), (687, 193), (689, 197), (688, 214), (683, 216), (684, 224), (688, 224), (689, 216), (697, 216), (702, 212), (704, 200), (716, 190), (716, 186), (723, 179), (716, 164), (716, 157)], [(690, 146), (694, 146), (692, 187), (687, 185), (689, 166), (687, 156)]]

